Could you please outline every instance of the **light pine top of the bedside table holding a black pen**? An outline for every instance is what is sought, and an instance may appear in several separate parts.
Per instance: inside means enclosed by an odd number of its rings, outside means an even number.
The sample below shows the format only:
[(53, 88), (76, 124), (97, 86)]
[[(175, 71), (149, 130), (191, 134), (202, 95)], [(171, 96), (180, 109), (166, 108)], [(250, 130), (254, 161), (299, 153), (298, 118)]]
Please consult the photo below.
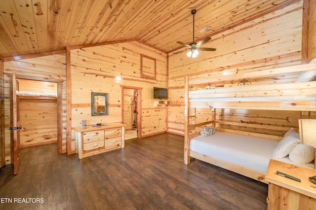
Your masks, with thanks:
[[(277, 175), (276, 171), (299, 178), (301, 182)], [(270, 159), (265, 180), (316, 199), (316, 184), (309, 180), (309, 177), (314, 175), (316, 175), (314, 169)]]

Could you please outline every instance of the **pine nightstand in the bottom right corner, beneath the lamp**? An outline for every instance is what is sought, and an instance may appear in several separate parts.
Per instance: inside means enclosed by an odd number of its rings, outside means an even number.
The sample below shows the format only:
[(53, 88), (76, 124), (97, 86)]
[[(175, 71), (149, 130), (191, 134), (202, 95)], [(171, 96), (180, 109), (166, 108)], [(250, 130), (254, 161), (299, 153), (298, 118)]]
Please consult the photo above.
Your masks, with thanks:
[[(301, 182), (276, 174), (282, 172)], [(316, 184), (309, 181), (316, 170), (270, 160), (265, 180), (269, 182), (268, 210), (316, 210)]]

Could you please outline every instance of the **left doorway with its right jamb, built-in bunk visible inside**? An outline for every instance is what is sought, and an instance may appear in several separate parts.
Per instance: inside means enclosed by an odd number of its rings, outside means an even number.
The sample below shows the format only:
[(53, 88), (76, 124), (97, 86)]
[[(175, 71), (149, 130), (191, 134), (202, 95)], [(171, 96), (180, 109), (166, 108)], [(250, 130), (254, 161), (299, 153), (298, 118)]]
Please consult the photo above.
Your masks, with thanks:
[[(58, 154), (62, 153), (62, 83), (64, 80), (21, 74), (16, 74), (15, 79), (15, 95), (19, 94), (17, 104), (19, 120), (26, 122), (25, 128), (20, 130), (25, 134), (29, 133), (25, 135), (29, 139), (24, 140), (22, 147), (28, 144), (32, 146), (57, 142)], [(21, 126), (23, 127), (22, 124)], [(34, 139), (30, 138), (32, 135), (35, 135)]]

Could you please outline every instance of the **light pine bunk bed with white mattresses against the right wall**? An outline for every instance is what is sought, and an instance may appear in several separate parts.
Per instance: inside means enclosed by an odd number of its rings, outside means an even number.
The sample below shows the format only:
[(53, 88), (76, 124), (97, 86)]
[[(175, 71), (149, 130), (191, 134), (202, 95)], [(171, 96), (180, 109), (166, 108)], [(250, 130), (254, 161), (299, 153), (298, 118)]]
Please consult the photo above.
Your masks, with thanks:
[[(207, 85), (219, 78), (223, 79), (225, 76), (220, 75), (223, 72), (219, 72), (218, 75), (213, 74), (209, 78), (205, 76), (205, 78), (189, 79), (189, 76), (186, 76), (184, 163), (189, 164), (192, 157), (266, 182), (264, 177), (269, 160), (273, 158), (272, 153), (282, 138), (271, 135), (262, 138), (253, 131), (226, 133), (217, 130), (212, 132), (214, 135), (203, 137), (200, 135), (200, 130), (208, 126), (216, 128), (216, 124), (219, 123), (219, 119), (215, 119), (217, 109), (316, 111), (315, 71), (315, 63), (253, 71), (239, 74), (239, 78), (277, 78), (277, 75), (291, 73), (300, 75), (297, 76), (296, 81), (291, 80), (288, 83), (235, 85), (220, 88), (208, 88)], [(206, 88), (199, 90), (202, 86)], [(192, 121), (194, 108), (209, 108), (212, 119), (194, 123)], [(213, 148), (205, 149), (210, 141), (209, 138), (215, 139)], [(291, 163), (288, 157), (279, 160)], [(312, 163), (304, 166), (314, 168)]]

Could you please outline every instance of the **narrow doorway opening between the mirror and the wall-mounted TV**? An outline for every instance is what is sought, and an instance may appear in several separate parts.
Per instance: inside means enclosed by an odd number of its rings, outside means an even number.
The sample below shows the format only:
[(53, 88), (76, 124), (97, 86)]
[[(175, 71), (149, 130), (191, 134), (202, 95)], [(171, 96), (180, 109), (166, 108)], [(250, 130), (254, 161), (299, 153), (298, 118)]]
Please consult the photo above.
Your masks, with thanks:
[(125, 140), (140, 138), (141, 88), (122, 87), (122, 122), (125, 126)]

